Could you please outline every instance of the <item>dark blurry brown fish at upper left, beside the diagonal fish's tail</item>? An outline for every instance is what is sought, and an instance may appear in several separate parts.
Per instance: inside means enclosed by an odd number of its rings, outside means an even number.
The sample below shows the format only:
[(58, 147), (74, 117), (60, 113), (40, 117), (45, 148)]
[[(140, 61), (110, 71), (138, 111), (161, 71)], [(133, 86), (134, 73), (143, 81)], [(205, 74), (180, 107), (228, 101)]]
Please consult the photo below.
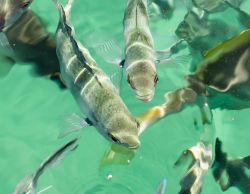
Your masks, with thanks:
[[(1, 43), (2, 42), (2, 43)], [(10, 64), (31, 64), (34, 76), (53, 78), (60, 88), (65, 88), (60, 79), (60, 66), (56, 55), (55, 37), (46, 30), (43, 21), (27, 9), (17, 21), (0, 33), (0, 71)], [(9, 69), (9, 71), (10, 71)], [(9, 71), (3, 73), (6, 76)]]

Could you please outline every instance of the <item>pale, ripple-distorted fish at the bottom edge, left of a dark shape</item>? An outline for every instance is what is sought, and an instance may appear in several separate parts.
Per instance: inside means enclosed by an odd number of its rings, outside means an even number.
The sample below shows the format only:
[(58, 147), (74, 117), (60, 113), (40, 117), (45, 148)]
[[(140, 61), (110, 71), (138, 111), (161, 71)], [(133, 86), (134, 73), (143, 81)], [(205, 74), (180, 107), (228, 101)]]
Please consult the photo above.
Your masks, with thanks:
[(180, 165), (186, 158), (192, 158), (192, 162), (180, 181), (181, 190), (179, 194), (200, 194), (202, 190), (202, 180), (209, 170), (212, 162), (212, 146), (205, 146), (203, 142), (198, 142), (195, 146), (184, 151), (175, 165)]

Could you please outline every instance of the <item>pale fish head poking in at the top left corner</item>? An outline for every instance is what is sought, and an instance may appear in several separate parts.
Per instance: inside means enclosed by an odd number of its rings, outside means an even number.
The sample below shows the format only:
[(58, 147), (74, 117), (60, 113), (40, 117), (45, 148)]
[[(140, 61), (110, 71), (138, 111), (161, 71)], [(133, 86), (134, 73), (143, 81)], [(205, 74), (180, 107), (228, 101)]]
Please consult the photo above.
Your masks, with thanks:
[(0, 0), (0, 31), (11, 26), (33, 0)]

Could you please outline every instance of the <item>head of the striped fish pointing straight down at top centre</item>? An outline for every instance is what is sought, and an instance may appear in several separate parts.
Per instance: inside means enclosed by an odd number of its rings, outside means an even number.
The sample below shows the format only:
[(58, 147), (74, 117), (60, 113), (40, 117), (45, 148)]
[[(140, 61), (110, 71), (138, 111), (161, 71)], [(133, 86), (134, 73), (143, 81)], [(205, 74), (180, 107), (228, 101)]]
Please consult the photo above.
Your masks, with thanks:
[(152, 100), (158, 82), (153, 62), (147, 60), (137, 62), (133, 68), (127, 69), (127, 78), (139, 100), (144, 102)]

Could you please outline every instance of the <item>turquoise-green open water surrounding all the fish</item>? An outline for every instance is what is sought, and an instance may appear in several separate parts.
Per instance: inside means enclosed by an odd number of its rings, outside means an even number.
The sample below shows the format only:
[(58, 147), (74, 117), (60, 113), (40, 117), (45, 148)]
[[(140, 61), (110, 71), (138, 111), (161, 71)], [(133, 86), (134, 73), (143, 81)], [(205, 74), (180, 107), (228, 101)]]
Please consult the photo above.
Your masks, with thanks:
[[(248, 3), (248, 4), (247, 4)], [(250, 7), (247, 2), (245, 7)], [(125, 0), (78, 0), (72, 10), (72, 23), (80, 41), (95, 32), (103, 31), (123, 44), (122, 19)], [(58, 13), (50, 1), (34, 1), (31, 9), (55, 32)], [(185, 15), (185, 9), (174, 13), (173, 19), (154, 20), (151, 28), (157, 49), (173, 43), (172, 35)], [(101, 34), (100, 34), (101, 36)], [(116, 67), (107, 64), (90, 50), (97, 63), (109, 74)], [(185, 85), (188, 65), (178, 68), (159, 66), (159, 83), (155, 98), (150, 103), (138, 101), (126, 80), (121, 96), (134, 115), (165, 101), (166, 91)], [(16, 184), (32, 173), (40, 163), (72, 134), (58, 139), (65, 115), (80, 114), (71, 93), (61, 90), (51, 80), (31, 75), (32, 66), (16, 64), (0, 80), (0, 193), (10, 194)], [(249, 109), (214, 110), (217, 136), (223, 149), (233, 158), (249, 155)], [(180, 153), (195, 145), (199, 131), (194, 120), (200, 120), (196, 106), (171, 115), (146, 130), (141, 136), (141, 147), (129, 164), (102, 165), (104, 154), (111, 144), (93, 127), (81, 131), (79, 147), (55, 168), (46, 171), (39, 179), (37, 191), (52, 186), (46, 194), (152, 194), (159, 181), (166, 177), (167, 192), (178, 193), (183, 169), (174, 168)], [(112, 179), (108, 179), (112, 175)], [(222, 193), (211, 171), (204, 177), (203, 194)], [(239, 194), (230, 188), (226, 194)]]

